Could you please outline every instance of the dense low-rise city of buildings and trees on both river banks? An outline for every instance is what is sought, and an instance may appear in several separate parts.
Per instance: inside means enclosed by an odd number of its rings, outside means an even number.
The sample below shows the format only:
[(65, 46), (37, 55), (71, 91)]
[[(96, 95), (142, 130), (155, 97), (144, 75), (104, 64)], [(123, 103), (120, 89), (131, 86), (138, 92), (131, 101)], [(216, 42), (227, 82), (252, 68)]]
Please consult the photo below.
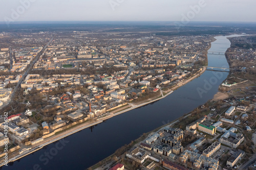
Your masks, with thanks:
[[(1, 165), (171, 94), (207, 69), (216, 35), (0, 32)], [(256, 169), (256, 36), (229, 40), (210, 52), (230, 66), (214, 99), (89, 169)]]

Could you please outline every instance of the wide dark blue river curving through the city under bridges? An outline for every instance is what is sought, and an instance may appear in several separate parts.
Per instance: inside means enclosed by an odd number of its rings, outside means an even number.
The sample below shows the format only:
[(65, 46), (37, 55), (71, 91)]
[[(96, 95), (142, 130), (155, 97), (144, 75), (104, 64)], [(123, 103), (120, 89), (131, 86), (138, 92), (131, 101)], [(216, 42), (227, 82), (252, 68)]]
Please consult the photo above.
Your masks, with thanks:
[[(230, 47), (227, 37), (231, 36), (215, 37), (217, 40), (211, 43), (209, 52), (225, 53)], [(224, 55), (208, 54), (208, 66), (228, 68), (228, 63)], [(228, 72), (206, 70), (199, 78), (160, 101), (125, 112), (97, 126), (70, 135), (65, 138), (68, 143), (63, 147), (60, 147), (61, 143), (51, 143), (0, 169), (87, 169), (143, 133), (172, 122), (212, 99), (227, 75)], [(54, 156), (47, 158), (45, 154), (50, 151)]]

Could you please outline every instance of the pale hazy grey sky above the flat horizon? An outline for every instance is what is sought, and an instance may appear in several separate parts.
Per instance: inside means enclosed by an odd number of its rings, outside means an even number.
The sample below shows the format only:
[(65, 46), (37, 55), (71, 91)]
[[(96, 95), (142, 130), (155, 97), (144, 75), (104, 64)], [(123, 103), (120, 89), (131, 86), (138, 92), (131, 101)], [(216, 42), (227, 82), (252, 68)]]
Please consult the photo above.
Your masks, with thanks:
[(255, 0), (2, 0), (0, 21), (256, 22), (255, 6)]

